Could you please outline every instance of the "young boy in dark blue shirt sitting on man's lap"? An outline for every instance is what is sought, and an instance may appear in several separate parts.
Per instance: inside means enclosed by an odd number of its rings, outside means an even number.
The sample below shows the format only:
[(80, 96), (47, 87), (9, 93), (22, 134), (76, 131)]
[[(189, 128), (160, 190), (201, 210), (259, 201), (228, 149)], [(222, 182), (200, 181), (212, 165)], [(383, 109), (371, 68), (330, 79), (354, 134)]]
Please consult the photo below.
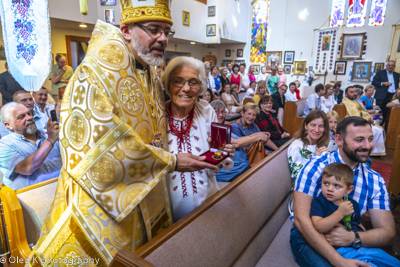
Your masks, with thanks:
[[(346, 196), (354, 189), (354, 174), (351, 168), (342, 163), (332, 163), (322, 172), (321, 194), (314, 198), (311, 204), (311, 220), (315, 229), (325, 234), (342, 223), (344, 217), (351, 215), (350, 225), (355, 237), (365, 229), (361, 225), (360, 207), (352, 199), (346, 201)], [(358, 245), (358, 246), (357, 246)], [(400, 266), (400, 261), (379, 248), (360, 247), (355, 242), (352, 247), (335, 247), (337, 252), (346, 259), (355, 259), (371, 266)]]

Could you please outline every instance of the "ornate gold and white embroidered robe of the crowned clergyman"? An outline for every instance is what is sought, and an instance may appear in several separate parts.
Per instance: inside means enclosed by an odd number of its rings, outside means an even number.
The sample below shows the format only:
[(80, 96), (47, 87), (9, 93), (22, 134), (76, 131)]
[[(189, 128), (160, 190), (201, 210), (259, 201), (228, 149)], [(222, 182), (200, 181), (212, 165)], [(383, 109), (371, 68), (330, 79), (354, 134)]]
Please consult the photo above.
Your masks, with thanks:
[(157, 133), (166, 142), (165, 115), (154, 69), (137, 70), (119, 29), (98, 21), (62, 102), (63, 169), (30, 265), (108, 266), (172, 224), (164, 177), (175, 156), (152, 145)]

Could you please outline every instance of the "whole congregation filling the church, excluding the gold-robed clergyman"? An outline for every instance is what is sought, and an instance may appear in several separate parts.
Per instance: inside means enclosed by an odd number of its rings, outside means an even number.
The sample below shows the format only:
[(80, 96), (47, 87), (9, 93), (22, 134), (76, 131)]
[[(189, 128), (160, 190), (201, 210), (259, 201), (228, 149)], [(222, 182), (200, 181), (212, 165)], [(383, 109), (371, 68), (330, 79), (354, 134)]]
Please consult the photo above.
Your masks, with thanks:
[[(62, 62), (63, 58), (58, 60)], [(57, 66), (51, 80), (67, 83), (64, 76), (68, 68)], [(383, 104), (373, 97), (374, 85), (351, 85), (343, 91), (340, 83), (317, 84), (315, 93), (306, 100), (304, 123), (291, 136), (282, 127), (283, 114), (287, 101), (301, 99), (300, 83), (295, 81), (287, 86), (280, 66), (272, 67), (270, 74), (263, 67), (256, 76), (252, 66), (245, 73), (245, 64), (228, 64), (219, 69), (191, 57), (177, 57), (157, 74), (169, 99), (165, 101), (168, 142), (164, 149), (175, 154), (177, 162), (185, 162), (184, 154), (191, 154), (193, 161), (204, 161), (202, 154), (210, 150), (212, 142), (212, 123), (232, 127), (231, 142), (220, 151), (229, 157), (218, 164), (204, 162), (190, 168), (179, 167), (176, 162), (175, 169), (166, 174), (173, 221), (218, 192), (218, 182), (232, 182), (250, 169), (247, 151), (252, 144), (261, 141), (268, 155), (293, 139), (287, 156), (295, 190), (291, 245), (296, 261), (335, 262), (337, 258), (315, 247), (319, 244), (332, 252), (332, 247), (328, 247), (331, 244), (340, 247), (336, 251), (346, 259), (368, 262), (374, 255), (379, 264), (398, 263), (380, 249), (354, 251), (360, 240), (368, 246), (379, 246), (393, 236), (392, 222), (383, 221), (389, 216), (385, 213), (389, 211), (385, 183), (370, 168), (370, 156), (385, 153), (385, 134), (380, 126), (385, 111)], [(56, 105), (48, 103), (50, 92), (44, 87), (34, 93), (17, 88), (12, 98), (3, 95), (9, 103), (1, 109), (0, 170), (4, 184), (14, 190), (60, 174), (63, 164), (59, 131), (63, 124), (52, 121), (50, 111), (55, 109), (59, 118), (61, 91), (65, 90), (61, 85), (57, 85), (58, 91), (52, 91), (58, 99)], [(239, 97), (241, 92), (244, 100), (249, 99), (246, 103)], [(391, 96), (385, 107), (400, 106), (400, 88)], [(339, 103), (347, 109), (347, 118), (342, 120), (333, 110)], [(226, 115), (233, 113), (238, 117), (227, 121)], [(358, 135), (363, 141), (356, 144), (354, 138)], [(338, 144), (337, 150), (328, 148), (332, 141)], [(365, 183), (365, 175), (374, 177), (376, 182)], [(364, 193), (355, 193), (357, 190)], [(367, 210), (378, 210), (371, 212), (371, 218), (380, 222), (377, 228), (389, 229), (382, 229), (385, 242), (372, 241), (374, 234), (360, 224)], [(352, 214), (355, 215), (349, 220), (349, 227), (356, 232), (354, 249), (348, 246), (349, 242), (327, 241), (321, 235), (312, 237), (316, 232), (328, 237), (341, 218)], [(311, 241), (315, 243), (310, 244)]]

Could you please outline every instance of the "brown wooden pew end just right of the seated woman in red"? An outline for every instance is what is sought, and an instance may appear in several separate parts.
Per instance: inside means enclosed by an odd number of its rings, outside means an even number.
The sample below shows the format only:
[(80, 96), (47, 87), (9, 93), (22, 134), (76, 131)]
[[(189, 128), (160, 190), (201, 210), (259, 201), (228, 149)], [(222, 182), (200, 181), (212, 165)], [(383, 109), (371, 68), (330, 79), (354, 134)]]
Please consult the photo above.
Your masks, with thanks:
[(299, 101), (288, 101), (285, 103), (283, 113), (283, 129), (287, 131), (290, 136), (300, 129), (301, 124), (304, 122), (304, 109), (306, 107), (307, 98)]

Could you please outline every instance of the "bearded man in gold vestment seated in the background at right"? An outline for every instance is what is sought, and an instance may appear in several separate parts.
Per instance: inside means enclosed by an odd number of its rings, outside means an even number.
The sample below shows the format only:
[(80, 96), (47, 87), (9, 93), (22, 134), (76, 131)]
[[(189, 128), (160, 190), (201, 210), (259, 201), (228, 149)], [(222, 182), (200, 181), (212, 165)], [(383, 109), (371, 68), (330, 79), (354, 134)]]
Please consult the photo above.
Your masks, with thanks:
[(373, 117), (365, 109), (364, 105), (361, 105), (356, 100), (357, 88), (355, 86), (347, 87), (345, 90), (345, 97), (342, 101), (342, 104), (347, 110), (346, 117), (357, 116), (366, 119), (371, 124), (374, 133), (374, 149), (372, 150), (371, 156), (386, 155), (385, 130), (380, 126), (374, 125)]

